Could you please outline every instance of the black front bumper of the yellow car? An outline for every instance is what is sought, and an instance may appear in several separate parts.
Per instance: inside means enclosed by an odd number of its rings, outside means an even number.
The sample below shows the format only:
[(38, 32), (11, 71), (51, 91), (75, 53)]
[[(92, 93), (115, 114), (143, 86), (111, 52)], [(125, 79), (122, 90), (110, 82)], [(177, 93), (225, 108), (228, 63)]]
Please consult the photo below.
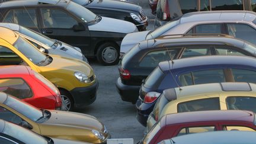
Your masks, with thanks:
[(75, 103), (74, 107), (76, 109), (85, 108), (96, 100), (98, 81), (97, 79), (95, 79), (95, 81), (96, 82), (89, 87), (80, 87), (71, 90), (71, 95)]

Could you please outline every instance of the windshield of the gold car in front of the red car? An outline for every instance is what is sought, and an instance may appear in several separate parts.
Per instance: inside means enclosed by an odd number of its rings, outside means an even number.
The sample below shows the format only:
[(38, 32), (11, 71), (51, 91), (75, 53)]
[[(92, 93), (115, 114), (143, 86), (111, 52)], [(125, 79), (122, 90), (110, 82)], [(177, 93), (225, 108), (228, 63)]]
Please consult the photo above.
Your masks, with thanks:
[(43, 111), (39, 110), (36, 107), (33, 107), (30, 104), (27, 104), (23, 101), (18, 100), (17, 98), (8, 96), (7, 100), (4, 102), (5, 105), (18, 111), (18, 113), (23, 114), (30, 120), (37, 121), (43, 117)]

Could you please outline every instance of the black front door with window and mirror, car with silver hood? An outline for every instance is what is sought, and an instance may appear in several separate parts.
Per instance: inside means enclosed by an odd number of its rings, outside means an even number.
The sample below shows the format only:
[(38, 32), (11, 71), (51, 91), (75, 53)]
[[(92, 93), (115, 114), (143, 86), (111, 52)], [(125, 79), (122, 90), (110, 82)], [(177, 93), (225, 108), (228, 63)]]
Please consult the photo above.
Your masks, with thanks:
[(82, 53), (89, 55), (91, 38), (85, 23), (82, 23), (66, 9), (60, 8), (41, 7), (40, 18), (42, 34), (80, 47)]

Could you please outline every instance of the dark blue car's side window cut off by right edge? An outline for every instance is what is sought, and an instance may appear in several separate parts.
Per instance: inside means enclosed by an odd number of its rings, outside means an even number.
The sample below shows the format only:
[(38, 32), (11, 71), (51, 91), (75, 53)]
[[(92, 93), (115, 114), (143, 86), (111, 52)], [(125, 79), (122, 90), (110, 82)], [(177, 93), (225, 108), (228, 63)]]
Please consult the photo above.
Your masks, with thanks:
[(247, 69), (232, 69), (233, 79), (235, 82), (252, 82), (256, 83), (256, 72)]

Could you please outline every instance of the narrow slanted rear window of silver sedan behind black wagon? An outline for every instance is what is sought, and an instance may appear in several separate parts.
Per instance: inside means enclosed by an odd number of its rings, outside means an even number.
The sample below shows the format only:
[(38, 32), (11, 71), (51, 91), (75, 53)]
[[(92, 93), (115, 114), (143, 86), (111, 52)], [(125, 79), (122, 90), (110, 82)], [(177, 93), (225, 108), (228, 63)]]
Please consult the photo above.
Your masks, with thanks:
[(146, 40), (155, 39), (156, 37), (161, 36), (168, 30), (171, 30), (171, 28), (175, 27), (178, 24), (180, 24), (180, 20), (170, 21), (167, 24), (162, 25), (161, 27), (158, 27), (155, 30), (149, 32), (149, 34), (146, 36)]

